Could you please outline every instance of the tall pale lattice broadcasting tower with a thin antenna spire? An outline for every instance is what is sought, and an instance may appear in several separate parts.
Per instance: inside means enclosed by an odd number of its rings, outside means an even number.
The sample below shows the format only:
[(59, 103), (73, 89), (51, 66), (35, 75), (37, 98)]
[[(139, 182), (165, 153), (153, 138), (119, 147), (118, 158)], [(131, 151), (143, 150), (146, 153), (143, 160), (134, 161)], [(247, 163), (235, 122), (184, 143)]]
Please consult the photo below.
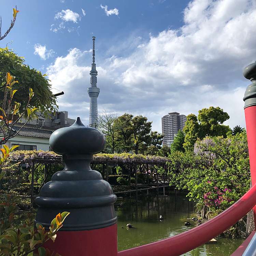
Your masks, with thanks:
[(93, 63), (91, 64), (91, 87), (89, 87), (88, 94), (90, 97), (90, 116), (89, 116), (89, 126), (93, 128), (98, 128), (98, 106), (97, 98), (100, 93), (100, 89), (97, 87), (97, 75), (95, 64), (95, 37), (93, 37)]

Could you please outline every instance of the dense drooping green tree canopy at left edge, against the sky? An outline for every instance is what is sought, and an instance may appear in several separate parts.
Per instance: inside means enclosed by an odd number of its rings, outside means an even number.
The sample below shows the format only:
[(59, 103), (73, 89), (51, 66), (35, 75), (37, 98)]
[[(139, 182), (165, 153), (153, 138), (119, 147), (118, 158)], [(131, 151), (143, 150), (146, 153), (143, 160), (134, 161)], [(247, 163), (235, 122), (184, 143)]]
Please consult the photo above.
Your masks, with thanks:
[(30, 68), (24, 62), (23, 57), (19, 57), (8, 48), (0, 48), (0, 102), (2, 103), (4, 99), (6, 73), (10, 72), (18, 81), (12, 87), (12, 89), (18, 89), (13, 100), (21, 103), (21, 112), (27, 108), (29, 88), (32, 88), (35, 97), (31, 99), (28, 107), (35, 107), (38, 112), (45, 114), (56, 111), (58, 108), (56, 97), (51, 91), (51, 85), (49, 80), (46, 79), (46, 74)]

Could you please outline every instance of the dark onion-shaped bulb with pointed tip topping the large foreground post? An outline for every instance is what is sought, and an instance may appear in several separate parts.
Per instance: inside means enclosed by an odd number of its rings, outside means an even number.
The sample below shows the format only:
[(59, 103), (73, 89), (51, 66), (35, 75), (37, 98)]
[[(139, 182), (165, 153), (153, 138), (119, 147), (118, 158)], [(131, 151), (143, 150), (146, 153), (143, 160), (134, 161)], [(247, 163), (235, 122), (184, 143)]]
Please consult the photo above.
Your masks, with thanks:
[(93, 155), (99, 153), (105, 144), (105, 137), (101, 131), (86, 127), (77, 117), (70, 127), (54, 131), (49, 139), (52, 150), (60, 155)]

